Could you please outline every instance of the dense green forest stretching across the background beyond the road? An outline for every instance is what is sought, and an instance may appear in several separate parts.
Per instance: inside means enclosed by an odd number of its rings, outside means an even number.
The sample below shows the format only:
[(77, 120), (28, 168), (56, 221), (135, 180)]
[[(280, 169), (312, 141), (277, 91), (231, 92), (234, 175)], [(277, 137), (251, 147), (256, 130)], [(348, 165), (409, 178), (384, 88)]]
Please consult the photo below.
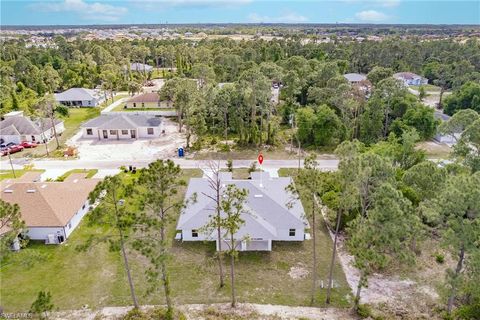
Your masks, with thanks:
[[(125, 68), (130, 62), (159, 69), (130, 72)], [(197, 147), (209, 134), (233, 137), (239, 145), (275, 145), (281, 126), (292, 124), (302, 146), (329, 148), (352, 139), (372, 144), (411, 129), (429, 139), (438, 125), (433, 110), (391, 78), (399, 71), (424, 75), (441, 95), (453, 90), (439, 106), (450, 115), (480, 111), (475, 40), (305, 44), (301, 39), (114, 42), (57, 36), (49, 48), (4, 42), (0, 70), (2, 113), (33, 113), (43, 95), (71, 87), (133, 93), (150, 77), (169, 78), (161, 94), (174, 101), (179, 126), (196, 137)], [(348, 72), (368, 74), (371, 94), (350, 86), (342, 77)], [(270, 100), (272, 83), (282, 85), (279, 105)]]

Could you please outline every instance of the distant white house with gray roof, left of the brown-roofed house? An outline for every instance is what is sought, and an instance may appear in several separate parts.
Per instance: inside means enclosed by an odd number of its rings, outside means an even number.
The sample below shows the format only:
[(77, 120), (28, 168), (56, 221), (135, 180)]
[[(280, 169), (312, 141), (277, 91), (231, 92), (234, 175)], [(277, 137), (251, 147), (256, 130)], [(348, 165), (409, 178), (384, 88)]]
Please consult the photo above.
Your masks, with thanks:
[(55, 99), (67, 107), (96, 107), (105, 100), (105, 94), (100, 90), (70, 88), (56, 93)]

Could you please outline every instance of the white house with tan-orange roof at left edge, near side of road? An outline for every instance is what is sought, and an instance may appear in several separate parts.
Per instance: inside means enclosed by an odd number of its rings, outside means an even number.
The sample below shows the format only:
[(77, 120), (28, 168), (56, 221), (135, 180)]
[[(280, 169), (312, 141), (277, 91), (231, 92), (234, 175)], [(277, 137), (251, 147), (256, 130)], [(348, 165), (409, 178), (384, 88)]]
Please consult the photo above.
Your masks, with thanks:
[(20, 206), (31, 240), (59, 244), (90, 210), (88, 195), (98, 182), (83, 176), (64, 182), (14, 182), (2, 188), (2, 200)]

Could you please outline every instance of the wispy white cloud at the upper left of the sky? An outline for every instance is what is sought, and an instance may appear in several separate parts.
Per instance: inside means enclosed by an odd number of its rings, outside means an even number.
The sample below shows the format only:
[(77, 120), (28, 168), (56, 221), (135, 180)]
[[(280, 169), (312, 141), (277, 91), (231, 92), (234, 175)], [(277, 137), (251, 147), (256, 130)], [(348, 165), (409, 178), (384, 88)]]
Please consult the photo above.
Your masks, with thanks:
[(44, 12), (73, 12), (85, 20), (117, 21), (128, 12), (125, 7), (118, 7), (100, 2), (87, 3), (83, 0), (64, 0), (62, 2), (42, 2), (32, 5), (35, 10)]

